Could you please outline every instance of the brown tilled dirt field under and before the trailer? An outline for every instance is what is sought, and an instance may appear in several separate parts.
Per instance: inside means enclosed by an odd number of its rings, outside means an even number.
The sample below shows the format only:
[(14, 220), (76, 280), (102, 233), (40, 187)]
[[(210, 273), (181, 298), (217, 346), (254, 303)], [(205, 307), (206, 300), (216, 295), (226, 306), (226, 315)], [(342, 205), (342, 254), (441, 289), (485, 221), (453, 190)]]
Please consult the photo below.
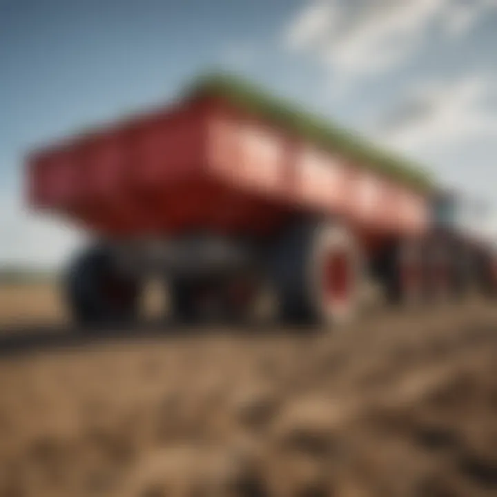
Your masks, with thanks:
[[(47, 289), (11, 292), (0, 322), (21, 309), (25, 329), (3, 340), (62, 319)], [(68, 343), (1, 355), (1, 497), (497, 495), (489, 302), (333, 333), (164, 327)]]

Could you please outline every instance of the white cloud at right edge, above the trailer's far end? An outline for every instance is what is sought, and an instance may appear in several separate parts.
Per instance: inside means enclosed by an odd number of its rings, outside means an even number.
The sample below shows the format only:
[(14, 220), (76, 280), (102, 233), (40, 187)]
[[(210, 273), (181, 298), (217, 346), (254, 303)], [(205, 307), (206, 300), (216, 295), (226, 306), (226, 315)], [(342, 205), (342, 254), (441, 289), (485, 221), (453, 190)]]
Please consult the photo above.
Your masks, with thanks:
[(458, 81), (432, 81), (413, 88), (393, 110), (376, 138), (394, 148), (416, 151), (474, 137), (497, 137), (497, 113), (485, 105), (497, 81), (472, 75)]

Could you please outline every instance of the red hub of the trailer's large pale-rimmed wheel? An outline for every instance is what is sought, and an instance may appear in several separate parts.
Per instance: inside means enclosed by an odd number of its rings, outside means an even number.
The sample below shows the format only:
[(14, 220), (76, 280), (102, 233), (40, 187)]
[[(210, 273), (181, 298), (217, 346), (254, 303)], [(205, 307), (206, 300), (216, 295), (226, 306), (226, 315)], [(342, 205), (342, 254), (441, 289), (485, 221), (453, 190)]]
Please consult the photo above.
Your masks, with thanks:
[(324, 260), (324, 299), (329, 303), (347, 302), (351, 290), (351, 261), (346, 251), (330, 253)]

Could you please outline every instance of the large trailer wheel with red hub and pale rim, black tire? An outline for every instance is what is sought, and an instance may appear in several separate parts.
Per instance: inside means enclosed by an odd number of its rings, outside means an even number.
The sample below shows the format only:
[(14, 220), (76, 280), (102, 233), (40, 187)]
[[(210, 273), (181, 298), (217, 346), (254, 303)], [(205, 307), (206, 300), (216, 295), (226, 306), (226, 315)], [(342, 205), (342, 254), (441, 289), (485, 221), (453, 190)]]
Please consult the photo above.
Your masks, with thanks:
[(361, 257), (344, 226), (295, 222), (273, 247), (269, 264), (284, 322), (340, 323), (358, 310)]

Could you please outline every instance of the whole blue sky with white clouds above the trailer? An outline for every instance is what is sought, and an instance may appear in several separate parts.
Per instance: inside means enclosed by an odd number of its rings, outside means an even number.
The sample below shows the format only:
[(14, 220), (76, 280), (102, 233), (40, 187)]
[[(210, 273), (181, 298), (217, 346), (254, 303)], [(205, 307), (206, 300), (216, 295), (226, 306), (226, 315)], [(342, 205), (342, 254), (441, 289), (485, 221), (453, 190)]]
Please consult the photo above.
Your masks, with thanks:
[(497, 233), (494, 0), (0, 0), (0, 264), (78, 236), (27, 213), (31, 146), (242, 72), (483, 197)]

